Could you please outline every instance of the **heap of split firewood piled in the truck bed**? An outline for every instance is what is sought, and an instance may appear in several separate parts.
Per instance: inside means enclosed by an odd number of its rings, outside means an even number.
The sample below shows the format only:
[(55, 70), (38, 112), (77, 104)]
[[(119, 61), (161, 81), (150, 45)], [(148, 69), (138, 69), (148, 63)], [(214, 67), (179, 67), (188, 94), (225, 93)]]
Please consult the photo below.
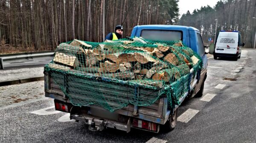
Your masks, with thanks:
[(189, 73), (191, 68), (201, 68), (200, 64), (200, 56), (180, 41), (154, 42), (134, 37), (102, 43), (77, 39), (61, 43), (48, 66), (161, 88)]

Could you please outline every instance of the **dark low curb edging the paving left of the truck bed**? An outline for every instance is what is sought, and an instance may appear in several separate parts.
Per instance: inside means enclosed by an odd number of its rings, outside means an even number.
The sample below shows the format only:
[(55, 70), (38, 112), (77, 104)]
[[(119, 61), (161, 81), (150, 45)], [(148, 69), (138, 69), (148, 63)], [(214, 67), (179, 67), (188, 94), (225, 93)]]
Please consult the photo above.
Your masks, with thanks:
[(17, 79), (12, 81), (0, 81), (0, 87), (6, 86), (6, 85), (12, 85), (12, 84), (22, 84), (22, 83), (32, 82), (32, 81), (41, 81), (41, 80), (44, 80), (44, 76), (28, 78), (28, 79)]

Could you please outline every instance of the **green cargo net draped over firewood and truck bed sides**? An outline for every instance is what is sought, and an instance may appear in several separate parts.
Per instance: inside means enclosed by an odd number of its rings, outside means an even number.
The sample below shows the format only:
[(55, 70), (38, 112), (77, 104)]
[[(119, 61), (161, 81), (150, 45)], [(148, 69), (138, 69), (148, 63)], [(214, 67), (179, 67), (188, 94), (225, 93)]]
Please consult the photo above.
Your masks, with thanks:
[(150, 106), (162, 96), (169, 107), (179, 105), (201, 67), (201, 57), (180, 41), (132, 37), (61, 43), (45, 71), (73, 105), (113, 112), (129, 104)]

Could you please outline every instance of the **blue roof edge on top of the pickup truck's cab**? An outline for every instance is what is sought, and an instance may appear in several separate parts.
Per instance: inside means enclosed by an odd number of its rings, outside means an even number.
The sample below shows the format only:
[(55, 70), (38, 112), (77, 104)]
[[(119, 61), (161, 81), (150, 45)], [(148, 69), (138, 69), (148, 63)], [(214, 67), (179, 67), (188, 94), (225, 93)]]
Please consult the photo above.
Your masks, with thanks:
[(138, 25), (135, 26), (134, 29), (157, 29), (157, 30), (195, 30), (195, 31), (199, 31), (197, 28), (194, 27), (188, 27), (188, 26), (180, 26), (180, 25)]

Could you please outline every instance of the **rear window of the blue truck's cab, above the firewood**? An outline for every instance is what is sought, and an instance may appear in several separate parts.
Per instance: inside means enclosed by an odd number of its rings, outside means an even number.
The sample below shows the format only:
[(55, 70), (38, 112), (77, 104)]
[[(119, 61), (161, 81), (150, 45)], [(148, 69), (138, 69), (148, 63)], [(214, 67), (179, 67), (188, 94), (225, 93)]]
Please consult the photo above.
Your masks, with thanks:
[(142, 30), (140, 36), (152, 41), (182, 41), (181, 31)]

